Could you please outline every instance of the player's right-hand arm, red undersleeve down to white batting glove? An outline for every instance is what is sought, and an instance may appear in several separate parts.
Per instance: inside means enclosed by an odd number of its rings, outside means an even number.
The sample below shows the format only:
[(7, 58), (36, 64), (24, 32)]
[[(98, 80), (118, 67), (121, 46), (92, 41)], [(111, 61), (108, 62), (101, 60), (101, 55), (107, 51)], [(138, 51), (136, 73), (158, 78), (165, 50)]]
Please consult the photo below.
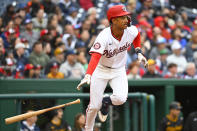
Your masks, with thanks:
[(134, 46), (135, 52), (138, 56), (138, 61), (140, 63), (143, 63), (144, 66), (147, 67), (148, 62), (147, 62), (146, 58), (144, 57), (144, 55), (142, 54), (142, 50), (141, 50), (141, 39), (140, 39), (140, 32), (139, 31), (138, 31), (138, 34), (133, 41), (133, 46)]

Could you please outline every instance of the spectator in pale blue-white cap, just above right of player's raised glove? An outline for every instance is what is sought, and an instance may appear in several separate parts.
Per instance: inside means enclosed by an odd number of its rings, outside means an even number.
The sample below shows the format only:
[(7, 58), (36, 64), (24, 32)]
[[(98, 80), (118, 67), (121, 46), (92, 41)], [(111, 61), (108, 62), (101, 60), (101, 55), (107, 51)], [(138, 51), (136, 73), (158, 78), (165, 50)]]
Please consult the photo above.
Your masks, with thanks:
[(167, 44), (167, 41), (164, 37), (158, 37), (156, 47), (152, 48), (149, 57), (151, 59), (156, 59), (159, 56), (161, 50), (163, 49), (168, 50), (166, 48), (166, 44)]

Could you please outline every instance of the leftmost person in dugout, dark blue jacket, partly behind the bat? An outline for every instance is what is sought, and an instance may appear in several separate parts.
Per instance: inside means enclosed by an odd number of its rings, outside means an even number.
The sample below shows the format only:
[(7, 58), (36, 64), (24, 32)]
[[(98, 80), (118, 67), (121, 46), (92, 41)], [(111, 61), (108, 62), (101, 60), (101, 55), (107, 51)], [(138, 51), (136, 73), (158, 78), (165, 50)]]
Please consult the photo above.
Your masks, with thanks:
[[(28, 110), (28, 112), (33, 112), (33, 110)], [(40, 128), (36, 125), (37, 116), (32, 116), (22, 121), (20, 131), (40, 131)]]

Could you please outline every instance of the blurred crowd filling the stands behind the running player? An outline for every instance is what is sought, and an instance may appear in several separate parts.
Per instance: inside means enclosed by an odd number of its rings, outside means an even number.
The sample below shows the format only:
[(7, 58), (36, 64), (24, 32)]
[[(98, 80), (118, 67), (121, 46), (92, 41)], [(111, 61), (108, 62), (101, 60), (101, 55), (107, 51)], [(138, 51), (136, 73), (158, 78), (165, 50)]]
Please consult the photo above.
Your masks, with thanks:
[(197, 19), (170, 1), (30, 0), (9, 4), (0, 16), (0, 77), (81, 79), (89, 49), (110, 26), (106, 11), (124, 4), (141, 32), (148, 69), (129, 48), (129, 79), (196, 79)]

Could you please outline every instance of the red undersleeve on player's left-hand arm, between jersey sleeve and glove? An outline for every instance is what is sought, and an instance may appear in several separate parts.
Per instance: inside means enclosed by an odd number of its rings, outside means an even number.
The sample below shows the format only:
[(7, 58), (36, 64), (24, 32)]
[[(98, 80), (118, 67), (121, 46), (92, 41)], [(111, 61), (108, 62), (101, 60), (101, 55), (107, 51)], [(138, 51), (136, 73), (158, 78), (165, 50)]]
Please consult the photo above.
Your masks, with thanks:
[(100, 58), (101, 58), (101, 54), (92, 53), (86, 74), (92, 75), (92, 73), (96, 69), (96, 66), (98, 65)]

